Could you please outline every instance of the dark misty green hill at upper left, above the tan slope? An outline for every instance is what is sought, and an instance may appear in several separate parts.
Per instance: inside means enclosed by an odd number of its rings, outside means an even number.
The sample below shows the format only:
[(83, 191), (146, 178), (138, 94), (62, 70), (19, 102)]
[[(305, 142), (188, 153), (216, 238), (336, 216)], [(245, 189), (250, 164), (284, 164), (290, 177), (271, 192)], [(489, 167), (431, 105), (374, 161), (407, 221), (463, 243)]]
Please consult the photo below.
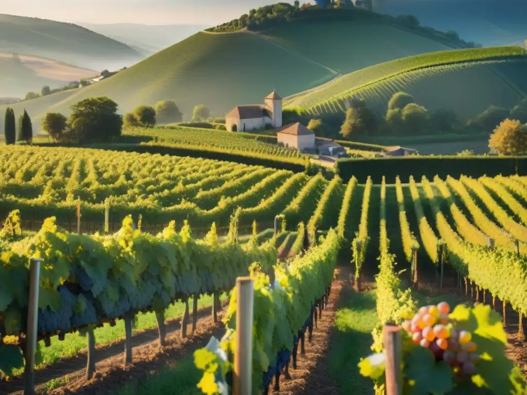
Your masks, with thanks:
[(69, 23), (0, 14), (0, 52), (66, 62), (91, 70), (116, 70), (144, 57), (128, 45)]

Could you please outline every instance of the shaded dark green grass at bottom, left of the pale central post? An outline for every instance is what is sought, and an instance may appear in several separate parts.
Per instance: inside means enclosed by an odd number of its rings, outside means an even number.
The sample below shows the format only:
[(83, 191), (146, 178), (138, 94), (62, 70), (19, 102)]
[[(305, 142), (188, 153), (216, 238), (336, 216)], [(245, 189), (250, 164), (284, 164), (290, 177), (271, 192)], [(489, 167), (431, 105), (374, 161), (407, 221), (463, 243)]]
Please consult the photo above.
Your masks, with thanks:
[(193, 357), (185, 357), (160, 371), (152, 371), (138, 381), (126, 384), (122, 390), (112, 395), (201, 395), (196, 385), (201, 380), (202, 371), (194, 366)]

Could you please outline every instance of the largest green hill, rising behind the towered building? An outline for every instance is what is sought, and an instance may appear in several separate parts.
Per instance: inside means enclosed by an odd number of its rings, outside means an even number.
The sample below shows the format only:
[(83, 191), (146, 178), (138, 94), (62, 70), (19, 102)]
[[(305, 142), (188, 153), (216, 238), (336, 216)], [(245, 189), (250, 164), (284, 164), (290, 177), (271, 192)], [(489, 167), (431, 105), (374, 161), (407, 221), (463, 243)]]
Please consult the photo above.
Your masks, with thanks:
[(376, 14), (343, 10), (335, 18), (320, 12), (261, 33), (197, 33), (67, 100), (52, 103), (48, 97), (46, 111), (67, 114), (79, 100), (109, 96), (121, 112), (170, 99), (187, 120), (197, 104), (224, 115), (237, 104), (262, 103), (273, 88), (287, 96), (380, 62), (451, 46)]

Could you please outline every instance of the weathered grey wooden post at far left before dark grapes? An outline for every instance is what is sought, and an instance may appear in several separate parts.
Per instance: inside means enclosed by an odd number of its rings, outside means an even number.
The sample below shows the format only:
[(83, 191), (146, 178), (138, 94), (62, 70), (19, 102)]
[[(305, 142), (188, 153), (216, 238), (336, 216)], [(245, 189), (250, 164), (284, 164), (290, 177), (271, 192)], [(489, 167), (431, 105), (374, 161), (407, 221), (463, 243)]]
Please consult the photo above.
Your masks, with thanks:
[(40, 259), (30, 260), (30, 294), (27, 302), (27, 333), (24, 367), (24, 395), (35, 393), (35, 351), (38, 329), (38, 289), (40, 288)]

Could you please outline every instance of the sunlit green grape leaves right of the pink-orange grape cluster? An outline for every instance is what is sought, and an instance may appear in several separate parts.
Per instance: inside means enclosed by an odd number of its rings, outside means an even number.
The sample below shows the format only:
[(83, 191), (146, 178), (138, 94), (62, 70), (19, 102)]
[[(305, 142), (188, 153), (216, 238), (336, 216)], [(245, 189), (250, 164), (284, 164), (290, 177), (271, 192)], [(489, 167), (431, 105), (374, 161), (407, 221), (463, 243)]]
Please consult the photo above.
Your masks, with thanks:
[(450, 318), (457, 321), (458, 329), (472, 333), (472, 341), (482, 357), (472, 381), (495, 393), (514, 393), (511, 379), (514, 363), (505, 356), (507, 335), (500, 314), (489, 305), (477, 304), (472, 309), (458, 305)]

